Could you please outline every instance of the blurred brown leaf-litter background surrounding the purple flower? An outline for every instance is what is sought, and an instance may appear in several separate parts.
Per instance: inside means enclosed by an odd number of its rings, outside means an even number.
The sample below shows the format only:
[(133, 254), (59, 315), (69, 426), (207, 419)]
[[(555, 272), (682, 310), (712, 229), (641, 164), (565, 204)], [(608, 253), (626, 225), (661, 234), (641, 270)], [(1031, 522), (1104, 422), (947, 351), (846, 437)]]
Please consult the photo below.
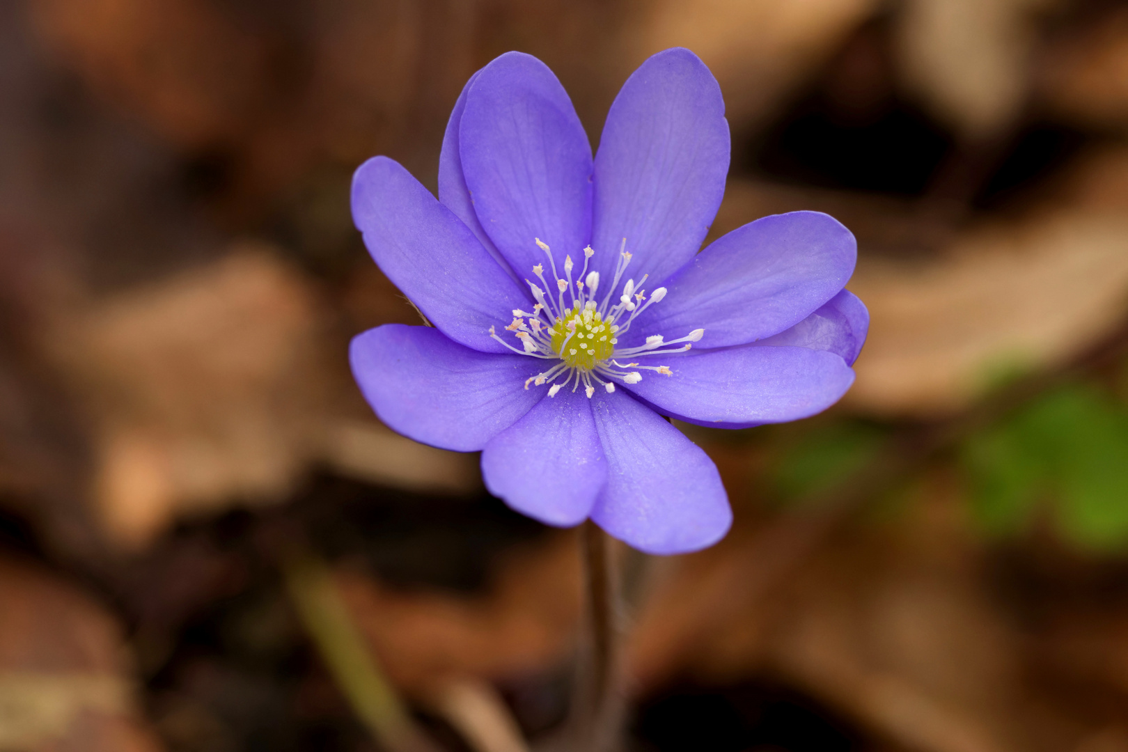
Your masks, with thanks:
[(479, 707), (550, 737), (575, 533), (360, 398), (349, 338), (416, 317), (349, 180), (382, 153), (433, 189), (502, 52), (596, 142), (673, 45), (728, 106), (714, 237), (829, 212), (872, 329), (829, 413), (680, 426), (735, 524), (636, 583), (629, 749), (1128, 752), (1107, 0), (0, 0), (0, 750), (380, 749), (296, 546), (444, 749), (503, 749)]

